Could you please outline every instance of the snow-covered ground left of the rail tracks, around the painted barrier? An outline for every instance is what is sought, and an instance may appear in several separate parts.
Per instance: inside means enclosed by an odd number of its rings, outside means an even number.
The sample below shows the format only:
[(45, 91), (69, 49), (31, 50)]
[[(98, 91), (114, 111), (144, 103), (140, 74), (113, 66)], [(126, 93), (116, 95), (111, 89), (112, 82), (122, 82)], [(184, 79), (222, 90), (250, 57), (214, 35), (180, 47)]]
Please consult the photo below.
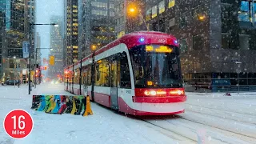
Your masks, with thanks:
[[(34, 94), (68, 94), (60, 86), (38, 86)], [(2, 144), (70, 144), (70, 143), (176, 143), (172, 138), (146, 126), (142, 121), (116, 114), (103, 106), (92, 103), (94, 115), (82, 117), (70, 114), (46, 114), (30, 109), (32, 98), (27, 86), (0, 87), (0, 121), (14, 109), (27, 110), (34, 119), (34, 129), (21, 140), (14, 140), (0, 131)], [(41, 90), (40, 90), (41, 89)], [(42, 90), (44, 89), (44, 90)], [(70, 95), (70, 94), (69, 94)], [(1, 127), (2, 127), (2, 122)]]

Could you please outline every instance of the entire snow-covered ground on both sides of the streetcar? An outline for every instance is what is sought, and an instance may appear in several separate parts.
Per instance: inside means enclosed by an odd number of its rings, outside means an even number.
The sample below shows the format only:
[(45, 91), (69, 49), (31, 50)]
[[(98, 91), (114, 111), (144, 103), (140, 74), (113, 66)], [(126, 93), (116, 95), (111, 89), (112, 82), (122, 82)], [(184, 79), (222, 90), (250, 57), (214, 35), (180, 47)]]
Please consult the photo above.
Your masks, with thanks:
[[(185, 114), (137, 118), (96, 103), (91, 104), (94, 115), (87, 117), (46, 114), (30, 109), (27, 91), (27, 86), (0, 86), (0, 144), (256, 143), (256, 93), (187, 93)], [(68, 93), (62, 85), (43, 84), (32, 94)], [(14, 109), (27, 110), (34, 119), (34, 130), (22, 140), (2, 129), (4, 117)]]

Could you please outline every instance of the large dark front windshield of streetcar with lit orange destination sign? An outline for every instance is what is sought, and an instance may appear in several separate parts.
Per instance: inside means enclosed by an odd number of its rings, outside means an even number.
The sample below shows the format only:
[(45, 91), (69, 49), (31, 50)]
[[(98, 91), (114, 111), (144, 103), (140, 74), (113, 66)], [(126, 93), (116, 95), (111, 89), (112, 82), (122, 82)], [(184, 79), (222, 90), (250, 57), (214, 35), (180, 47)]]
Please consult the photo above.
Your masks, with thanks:
[(182, 87), (174, 46), (137, 46), (130, 50), (135, 87)]

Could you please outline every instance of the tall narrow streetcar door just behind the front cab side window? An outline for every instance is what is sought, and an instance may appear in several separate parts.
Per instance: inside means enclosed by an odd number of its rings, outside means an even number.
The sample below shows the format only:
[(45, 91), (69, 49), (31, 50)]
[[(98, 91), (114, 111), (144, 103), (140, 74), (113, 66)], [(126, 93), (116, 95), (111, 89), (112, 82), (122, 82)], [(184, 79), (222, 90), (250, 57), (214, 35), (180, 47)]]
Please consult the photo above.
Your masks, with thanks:
[(110, 102), (111, 108), (114, 110), (118, 110), (119, 68), (118, 57), (110, 59)]

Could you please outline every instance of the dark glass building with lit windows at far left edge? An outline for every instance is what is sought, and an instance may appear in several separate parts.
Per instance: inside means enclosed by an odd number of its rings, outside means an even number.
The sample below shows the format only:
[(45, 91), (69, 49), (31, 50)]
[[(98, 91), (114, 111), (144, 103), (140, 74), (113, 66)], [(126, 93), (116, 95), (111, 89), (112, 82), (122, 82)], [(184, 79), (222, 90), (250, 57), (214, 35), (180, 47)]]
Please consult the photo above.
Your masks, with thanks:
[[(2, 82), (6, 79), (21, 79), (23, 74), (27, 74), (27, 61), (22, 55), (22, 42), (29, 39), (30, 22), (34, 22), (34, 0), (0, 1), (0, 77)], [(32, 30), (34, 30), (33, 27)]]

